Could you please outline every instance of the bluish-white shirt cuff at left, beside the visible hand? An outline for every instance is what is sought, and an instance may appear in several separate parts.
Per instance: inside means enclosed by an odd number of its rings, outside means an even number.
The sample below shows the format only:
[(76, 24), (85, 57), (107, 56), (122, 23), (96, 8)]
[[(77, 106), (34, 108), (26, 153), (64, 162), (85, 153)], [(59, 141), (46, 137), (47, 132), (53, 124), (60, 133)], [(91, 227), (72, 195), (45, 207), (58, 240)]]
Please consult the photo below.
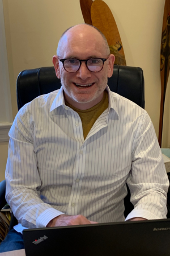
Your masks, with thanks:
[(36, 220), (36, 227), (37, 228), (46, 228), (46, 225), (52, 220), (53, 218), (65, 214), (63, 212), (59, 212), (59, 210), (56, 210), (54, 208), (48, 208), (44, 212), (40, 214), (39, 217), (37, 217)]

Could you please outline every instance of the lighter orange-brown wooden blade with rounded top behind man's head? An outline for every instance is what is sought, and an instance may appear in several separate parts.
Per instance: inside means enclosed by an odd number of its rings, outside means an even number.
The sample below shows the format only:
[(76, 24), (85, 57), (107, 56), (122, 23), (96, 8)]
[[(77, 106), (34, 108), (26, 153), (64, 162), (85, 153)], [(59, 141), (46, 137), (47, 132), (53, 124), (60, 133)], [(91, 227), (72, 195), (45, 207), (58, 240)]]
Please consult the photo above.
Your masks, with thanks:
[(91, 5), (92, 24), (105, 35), (109, 48), (115, 56), (114, 64), (126, 65), (124, 48), (120, 34), (108, 5), (102, 0), (95, 0)]

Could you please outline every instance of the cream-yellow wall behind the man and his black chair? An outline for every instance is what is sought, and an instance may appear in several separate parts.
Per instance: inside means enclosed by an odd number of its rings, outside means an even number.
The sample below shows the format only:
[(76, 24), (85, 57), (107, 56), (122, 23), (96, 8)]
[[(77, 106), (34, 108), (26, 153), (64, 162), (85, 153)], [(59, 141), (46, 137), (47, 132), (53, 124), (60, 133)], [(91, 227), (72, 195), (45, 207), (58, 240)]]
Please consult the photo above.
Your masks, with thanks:
[[(146, 110), (159, 130), (160, 41), (165, 0), (104, 0), (120, 31), (130, 66), (145, 76)], [(3, 0), (13, 118), (17, 113), (16, 78), (23, 69), (52, 65), (62, 32), (83, 23), (79, 0)], [(170, 146), (170, 89), (164, 114), (163, 145)]]

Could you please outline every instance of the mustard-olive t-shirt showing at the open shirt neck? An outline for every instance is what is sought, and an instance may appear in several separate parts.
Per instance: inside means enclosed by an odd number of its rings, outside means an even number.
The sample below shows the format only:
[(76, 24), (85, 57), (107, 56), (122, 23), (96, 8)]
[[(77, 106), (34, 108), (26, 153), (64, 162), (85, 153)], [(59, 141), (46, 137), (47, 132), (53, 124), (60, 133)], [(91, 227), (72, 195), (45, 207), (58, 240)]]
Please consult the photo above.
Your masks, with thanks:
[(93, 106), (90, 109), (76, 109), (74, 108), (74, 106), (70, 105), (66, 100), (65, 104), (66, 106), (69, 106), (69, 108), (73, 109), (76, 113), (79, 114), (80, 119), (82, 120), (84, 139), (86, 139), (87, 134), (90, 132), (97, 118), (99, 118), (100, 115), (104, 112), (104, 110), (108, 108), (108, 92), (104, 90), (103, 99), (97, 105)]

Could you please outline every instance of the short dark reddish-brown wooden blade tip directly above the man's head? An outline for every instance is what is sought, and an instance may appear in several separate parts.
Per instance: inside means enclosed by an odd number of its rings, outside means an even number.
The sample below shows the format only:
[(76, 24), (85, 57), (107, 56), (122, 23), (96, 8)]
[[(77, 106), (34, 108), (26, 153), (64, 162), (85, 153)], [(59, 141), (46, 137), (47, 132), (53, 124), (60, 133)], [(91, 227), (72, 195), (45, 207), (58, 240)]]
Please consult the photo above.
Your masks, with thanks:
[(93, 1), (92, 0), (80, 0), (80, 7), (82, 10), (84, 22), (87, 24), (92, 25), (91, 21), (91, 5)]

